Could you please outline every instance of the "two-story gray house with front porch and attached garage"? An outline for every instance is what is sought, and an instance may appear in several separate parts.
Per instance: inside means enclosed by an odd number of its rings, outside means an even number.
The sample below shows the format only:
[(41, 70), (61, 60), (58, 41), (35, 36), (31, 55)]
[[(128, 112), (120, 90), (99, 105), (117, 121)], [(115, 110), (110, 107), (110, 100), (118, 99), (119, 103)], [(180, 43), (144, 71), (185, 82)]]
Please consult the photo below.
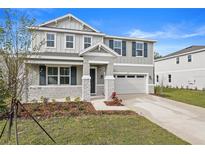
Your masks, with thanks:
[(26, 100), (153, 93), (155, 41), (108, 36), (71, 14), (30, 29), (32, 46), (45, 44), (27, 61)]

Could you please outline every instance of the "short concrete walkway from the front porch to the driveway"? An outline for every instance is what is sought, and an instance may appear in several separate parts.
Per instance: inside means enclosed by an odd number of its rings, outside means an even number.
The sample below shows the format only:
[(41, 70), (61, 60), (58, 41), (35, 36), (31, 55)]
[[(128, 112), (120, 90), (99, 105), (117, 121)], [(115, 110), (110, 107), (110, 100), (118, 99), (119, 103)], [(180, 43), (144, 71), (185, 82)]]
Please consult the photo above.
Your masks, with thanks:
[(107, 106), (104, 103), (104, 99), (93, 99), (91, 100), (92, 105), (97, 111), (122, 111), (122, 110), (130, 110), (125, 106)]

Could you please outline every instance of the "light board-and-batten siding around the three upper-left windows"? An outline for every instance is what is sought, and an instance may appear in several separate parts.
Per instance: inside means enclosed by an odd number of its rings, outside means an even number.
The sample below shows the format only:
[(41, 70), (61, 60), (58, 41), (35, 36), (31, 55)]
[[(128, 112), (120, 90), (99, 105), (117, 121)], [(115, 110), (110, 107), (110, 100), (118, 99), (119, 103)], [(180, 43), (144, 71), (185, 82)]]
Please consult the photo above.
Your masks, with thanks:
[[(36, 37), (34, 38), (34, 41), (32, 43), (32, 47), (34, 48), (35, 45), (39, 45), (41, 41), (46, 41), (46, 33), (54, 33), (56, 38), (55, 42), (55, 48), (47, 48), (46, 42), (41, 46), (40, 52), (69, 52), (69, 53), (79, 53), (84, 49), (84, 43), (83, 43), (83, 37), (84, 36), (90, 36), (90, 35), (83, 35), (83, 34), (73, 34), (73, 33), (57, 33), (57, 32), (42, 32), (37, 31)], [(65, 48), (65, 37), (66, 34), (69, 35), (75, 35), (75, 43), (74, 43), (74, 49), (66, 49)], [(95, 45), (99, 42), (102, 42), (103, 38), (102, 36), (92, 36), (92, 45)]]

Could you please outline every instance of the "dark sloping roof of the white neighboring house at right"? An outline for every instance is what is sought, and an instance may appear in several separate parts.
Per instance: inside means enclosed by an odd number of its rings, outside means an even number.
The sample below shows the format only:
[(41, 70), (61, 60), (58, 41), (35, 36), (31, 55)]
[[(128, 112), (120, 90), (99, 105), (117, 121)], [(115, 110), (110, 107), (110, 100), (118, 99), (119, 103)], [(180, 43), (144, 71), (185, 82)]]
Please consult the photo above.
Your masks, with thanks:
[(194, 53), (194, 52), (199, 52), (199, 51), (204, 51), (205, 50), (205, 46), (189, 46), (187, 48), (184, 48), (182, 50), (170, 53), (164, 57), (158, 58), (155, 61), (160, 61), (160, 60), (164, 60), (164, 59), (168, 59), (168, 58), (172, 58), (172, 57), (177, 57), (179, 55), (184, 55), (184, 54), (189, 54), (189, 53)]

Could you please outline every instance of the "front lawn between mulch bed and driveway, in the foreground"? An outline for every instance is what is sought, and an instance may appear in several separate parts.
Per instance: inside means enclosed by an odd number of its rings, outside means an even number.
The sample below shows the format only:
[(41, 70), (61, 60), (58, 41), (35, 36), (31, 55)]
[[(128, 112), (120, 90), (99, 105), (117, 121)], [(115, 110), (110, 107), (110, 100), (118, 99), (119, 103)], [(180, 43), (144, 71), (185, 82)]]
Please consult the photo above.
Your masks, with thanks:
[[(188, 144), (138, 115), (49, 118), (40, 123), (57, 144)], [(20, 120), (18, 128), (20, 144), (53, 144), (31, 120)], [(9, 143), (4, 134), (0, 144), (15, 144), (14, 134)]]

